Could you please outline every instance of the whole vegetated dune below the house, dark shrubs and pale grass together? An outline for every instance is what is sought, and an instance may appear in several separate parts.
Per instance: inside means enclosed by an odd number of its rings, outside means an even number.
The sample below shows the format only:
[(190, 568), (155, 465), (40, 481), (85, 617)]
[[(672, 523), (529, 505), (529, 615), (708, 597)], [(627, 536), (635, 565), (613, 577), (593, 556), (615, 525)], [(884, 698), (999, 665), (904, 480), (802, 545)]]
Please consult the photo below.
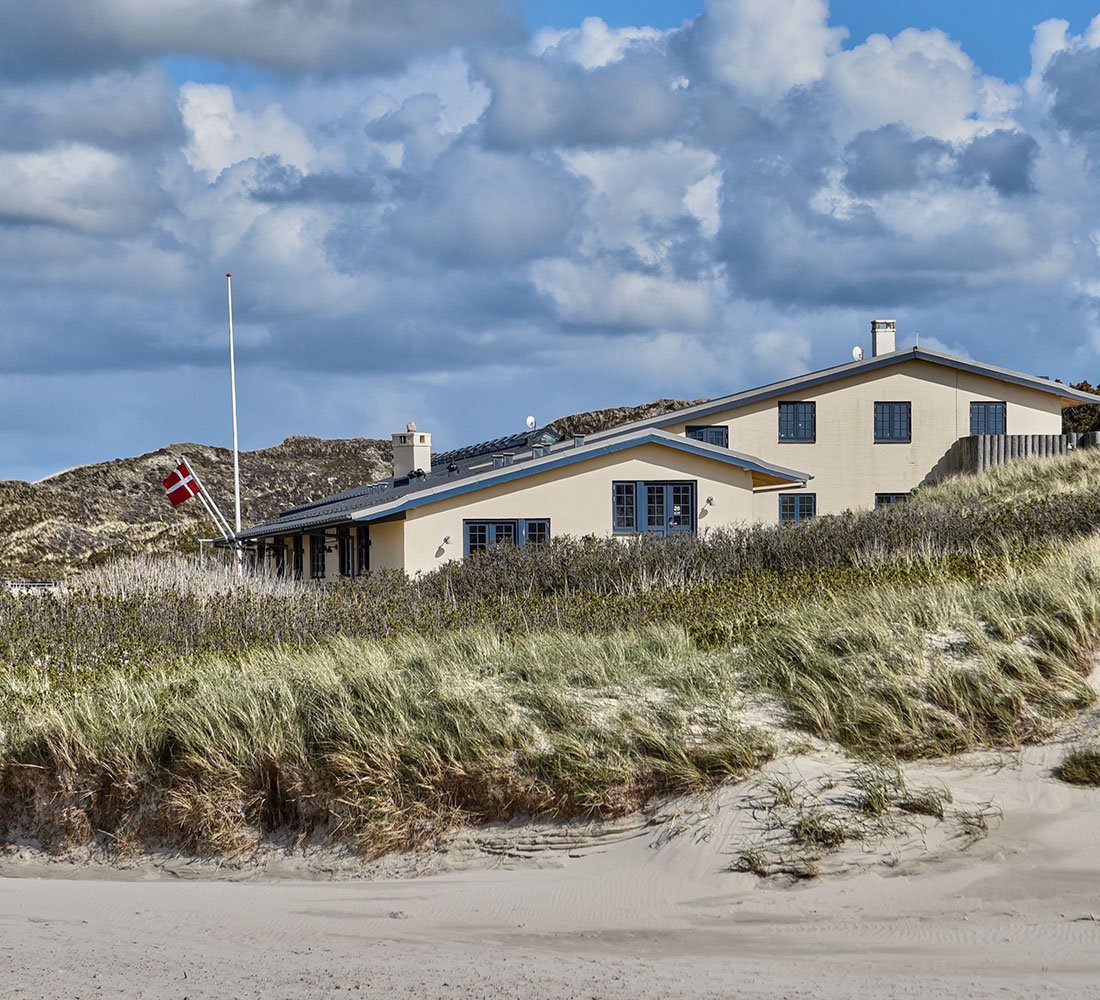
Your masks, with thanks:
[(774, 752), (1019, 745), (1093, 700), (1100, 457), (902, 508), (502, 549), (319, 591), (150, 564), (0, 598), (0, 836), (367, 855), (619, 814)]

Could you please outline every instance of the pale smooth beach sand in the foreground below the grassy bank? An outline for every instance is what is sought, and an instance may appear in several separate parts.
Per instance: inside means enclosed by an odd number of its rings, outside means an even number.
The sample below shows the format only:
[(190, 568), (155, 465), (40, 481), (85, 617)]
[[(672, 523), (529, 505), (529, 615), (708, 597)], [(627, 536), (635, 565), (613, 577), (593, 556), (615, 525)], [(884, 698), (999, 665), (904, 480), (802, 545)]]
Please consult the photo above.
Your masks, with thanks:
[[(802, 881), (730, 870), (759, 781), (359, 871), (308, 853), (218, 870), (13, 850), (3, 996), (1100, 997), (1100, 791), (1052, 776), (1063, 746), (922, 766), (956, 806), (991, 803), (987, 836), (927, 821)], [(820, 751), (772, 770), (836, 767)]]

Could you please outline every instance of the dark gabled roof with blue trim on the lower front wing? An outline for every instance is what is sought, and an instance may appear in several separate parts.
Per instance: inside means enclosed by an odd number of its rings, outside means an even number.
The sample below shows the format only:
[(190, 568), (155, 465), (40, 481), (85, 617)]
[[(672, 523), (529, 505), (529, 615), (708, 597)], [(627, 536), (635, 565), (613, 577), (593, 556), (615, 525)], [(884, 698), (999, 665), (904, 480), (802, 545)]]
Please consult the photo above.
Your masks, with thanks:
[(372, 493), (370, 487), (364, 487), (367, 492), (348, 491), (326, 501), (318, 501), (307, 507), (296, 507), (274, 520), (241, 531), (237, 537), (250, 539), (270, 535), (290, 535), (336, 525), (383, 520), (397, 517), (426, 504), (473, 493), (499, 483), (525, 479), (552, 469), (586, 462), (601, 455), (626, 451), (642, 444), (660, 444), (675, 451), (702, 455), (726, 465), (744, 469), (752, 474), (754, 486), (805, 483), (812, 479), (805, 472), (784, 469), (752, 455), (730, 451), (728, 448), (706, 444), (703, 441), (651, 428), (619, 436), (610, 441), (563, 444), (548, 455), (517, 458), (514, 464), (501, 469), (482, 471), (483, 466), (479, 465), (475, 470), (468, 468), (464, 474), (460, 475), (450, 475), (446, 469), (432, 469), (431, 474), (420, 483), (394, 486), (384, 493)]

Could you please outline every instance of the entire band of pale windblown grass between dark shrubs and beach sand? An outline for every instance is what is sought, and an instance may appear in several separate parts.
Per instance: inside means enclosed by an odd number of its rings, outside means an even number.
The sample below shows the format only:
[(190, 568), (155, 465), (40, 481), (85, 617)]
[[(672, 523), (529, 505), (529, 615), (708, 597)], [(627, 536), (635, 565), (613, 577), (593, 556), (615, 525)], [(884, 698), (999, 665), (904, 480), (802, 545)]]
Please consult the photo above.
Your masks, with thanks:
[(744, 721), (762, 704), (867, 758), (1016, 746), (1093, 700), (1098, 587), (1086, 539), (996, 586), (823, 598), (726, 649), (675, 626), (475, 630), (9, 670), (0, 817), (54, 844), (227, 853), (316, 833), (377, 855), (713, 788), (774, 752)]

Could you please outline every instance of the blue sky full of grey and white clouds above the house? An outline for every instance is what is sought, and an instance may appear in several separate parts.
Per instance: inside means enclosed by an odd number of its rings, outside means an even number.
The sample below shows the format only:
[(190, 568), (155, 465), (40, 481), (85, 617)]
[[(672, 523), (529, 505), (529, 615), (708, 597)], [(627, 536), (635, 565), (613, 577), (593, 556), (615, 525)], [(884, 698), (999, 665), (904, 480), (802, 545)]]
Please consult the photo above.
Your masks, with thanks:
[(0, 0), (0, 479), (921, 343), (1100, 381), (1100, 0)]

